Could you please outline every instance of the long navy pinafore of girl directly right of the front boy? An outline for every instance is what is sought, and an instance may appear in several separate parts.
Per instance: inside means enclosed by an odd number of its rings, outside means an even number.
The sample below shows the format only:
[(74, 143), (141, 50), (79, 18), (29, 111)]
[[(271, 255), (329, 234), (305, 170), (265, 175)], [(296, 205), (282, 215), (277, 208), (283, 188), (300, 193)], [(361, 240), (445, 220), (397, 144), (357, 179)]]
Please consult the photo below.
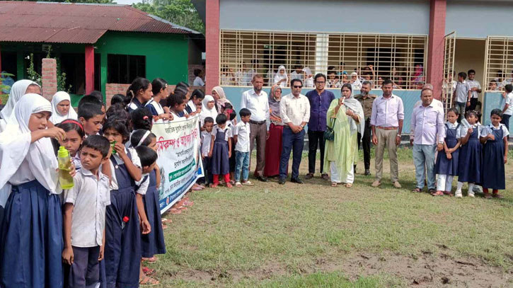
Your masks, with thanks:
[[(128, 158), (132, 159), (130, 151)], [(139, 287), (141, 259), (141, 232), (135, 200), (135, 181), (129, 175), (125, 163), (115, 167), (117, 190), (110, 191), (110, 205), (105, 214), (105, 270), (107, 287)]]

